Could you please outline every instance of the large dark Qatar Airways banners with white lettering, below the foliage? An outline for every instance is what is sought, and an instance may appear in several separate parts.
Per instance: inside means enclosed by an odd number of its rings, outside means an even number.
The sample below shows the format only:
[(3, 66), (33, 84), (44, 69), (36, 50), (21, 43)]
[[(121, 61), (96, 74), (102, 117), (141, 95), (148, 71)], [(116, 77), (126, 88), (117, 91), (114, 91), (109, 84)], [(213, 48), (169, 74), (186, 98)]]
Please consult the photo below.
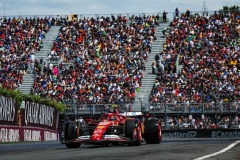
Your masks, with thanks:
[(20, 108), (14, 99), (0, 96), (0, 125), (56, 130), (58, 115), (58, 110), (51, 106), (24, 101)]

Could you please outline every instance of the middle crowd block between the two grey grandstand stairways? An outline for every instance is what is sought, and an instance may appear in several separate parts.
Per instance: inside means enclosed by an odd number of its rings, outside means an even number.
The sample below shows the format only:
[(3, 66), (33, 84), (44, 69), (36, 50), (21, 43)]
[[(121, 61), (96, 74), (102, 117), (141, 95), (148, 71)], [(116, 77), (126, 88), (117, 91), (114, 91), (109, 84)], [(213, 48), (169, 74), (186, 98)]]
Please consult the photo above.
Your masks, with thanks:
[(154, 15), (64, 21), (49, 54), (61, 63), (37, 63), (43, 72), (37, 67), (31, 93), (83, 104), (132, 101), (158, 23)]

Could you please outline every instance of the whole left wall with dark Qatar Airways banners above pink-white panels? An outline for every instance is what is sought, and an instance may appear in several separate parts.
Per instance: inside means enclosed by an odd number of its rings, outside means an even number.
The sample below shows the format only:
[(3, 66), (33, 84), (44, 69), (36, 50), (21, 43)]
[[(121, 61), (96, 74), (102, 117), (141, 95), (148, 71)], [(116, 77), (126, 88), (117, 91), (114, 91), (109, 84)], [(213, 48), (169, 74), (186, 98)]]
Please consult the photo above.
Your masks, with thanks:
[(0, 142), (58, 140), (57, 109), (0, 96)]

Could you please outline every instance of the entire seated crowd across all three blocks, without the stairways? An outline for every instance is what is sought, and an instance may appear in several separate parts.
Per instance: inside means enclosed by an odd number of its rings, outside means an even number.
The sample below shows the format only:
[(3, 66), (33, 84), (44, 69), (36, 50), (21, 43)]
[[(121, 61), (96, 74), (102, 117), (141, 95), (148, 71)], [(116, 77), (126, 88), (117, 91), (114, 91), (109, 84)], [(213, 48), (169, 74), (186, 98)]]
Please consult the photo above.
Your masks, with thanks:
[[(18, 88), (34, 61), (32, 94), (80, 103), (134, 100), (159, 17), (132, 16), (130, 20), (123, 15), (73, 21), (2, 18), (0, 83)], [(239, 22), (237, 12), (178, 14), (165, 34), (164, 50), (155, 58), (157, 79), (150, 101), (239, 102)], [(61, 25), (49, 53), (61, 60), (58, 66), (34, 59), (51, 25)], [(177, 62), (183, 66), (179, 72)]]

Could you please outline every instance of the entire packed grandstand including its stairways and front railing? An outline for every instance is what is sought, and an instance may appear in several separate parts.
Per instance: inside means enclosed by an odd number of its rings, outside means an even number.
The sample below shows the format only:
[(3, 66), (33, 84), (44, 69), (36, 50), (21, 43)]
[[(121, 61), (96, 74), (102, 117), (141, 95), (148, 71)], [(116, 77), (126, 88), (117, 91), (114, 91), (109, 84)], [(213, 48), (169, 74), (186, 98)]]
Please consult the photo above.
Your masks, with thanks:
[(158, 114), (166, 126), (168, 116), (179, 125), (189, 115), (236, 124), (239, 22), (239, 12), (181, 13), (166, 23), (159, 13), (2, 18), (0, 83), (74, 114), (119, 105)]

